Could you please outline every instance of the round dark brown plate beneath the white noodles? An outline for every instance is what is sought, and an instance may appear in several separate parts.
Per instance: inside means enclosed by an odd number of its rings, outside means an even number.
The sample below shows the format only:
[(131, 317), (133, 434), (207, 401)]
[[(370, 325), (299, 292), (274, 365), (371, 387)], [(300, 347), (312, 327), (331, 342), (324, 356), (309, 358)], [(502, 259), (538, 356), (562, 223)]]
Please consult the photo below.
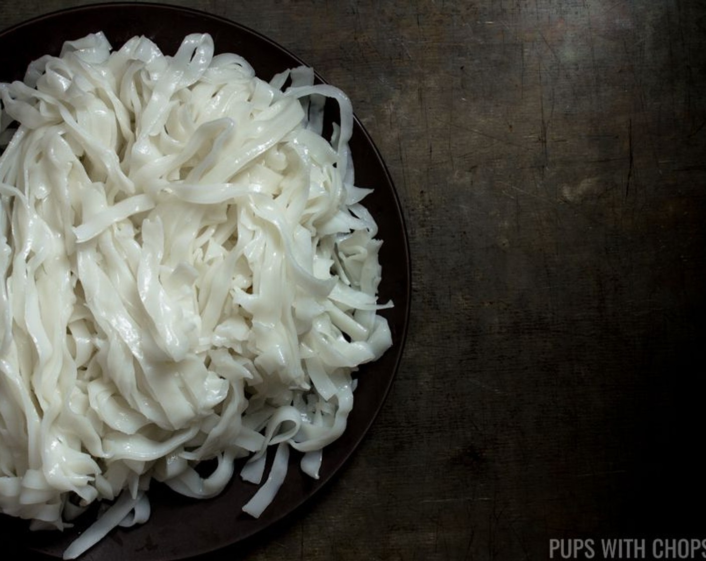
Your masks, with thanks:
[[(35, 18), (0, 33), (0, 81), (21, 79), (25, 68), (43, 54), (58, 54), (65, 40), (103, 31), (114, 47), (133, 35), (154, 40), (167, 54), (174, 53), (185, 35), (208, 32), (217, 52), (244, 56), (258, 76), (298, 66), (296, 56), (262, 35), (232, 21), (191, 9), (160, 4), (101, 4), (71, 8)], [(344, 464), (381, 409), (402, 356), (409, 317), (409, 251), (400, 203), (390, 174), (361, 123), (354, 123), (351, 150), (356, 163), (356, 183), (374, 187), (365, 205), (376, 217), (384, 240), (381, 249), (382, 301), (393, 298), (395, 308), (385, 310), (393, 334), (393, 347), (379, 361), (361, 367), (355, 406), (342, 437), (324, 450), (321, 478), (313, 481), (299, 470), (299, 455), (292, 454), (287, 480), (259, 519), (241, 513), (241, 506), (256, 490), (235, 476), (224, 493), (213, 500), (188, 500), (159, 486), (150, 490), (152, 516), (133, 529), (116, 529), (83, 560), (177, 560), (224, 548), (242, 541), (292, 513)], [(315, 514), (313, 514), (315, 516)], [(287, 523), (286, 521), (284, 522)], [(25, 521), (0, 517), (4, 544), (19, 544), (18, 554), (40, 552), (61, 557), (66, 545), (88, 521), (59, 532), (29, 532)], [(5, 547), (5, 546), (4, 546)], [(3, 554), (6, 553), (4, 550)], [(4, 555), (0, 555), (4, 558)]]

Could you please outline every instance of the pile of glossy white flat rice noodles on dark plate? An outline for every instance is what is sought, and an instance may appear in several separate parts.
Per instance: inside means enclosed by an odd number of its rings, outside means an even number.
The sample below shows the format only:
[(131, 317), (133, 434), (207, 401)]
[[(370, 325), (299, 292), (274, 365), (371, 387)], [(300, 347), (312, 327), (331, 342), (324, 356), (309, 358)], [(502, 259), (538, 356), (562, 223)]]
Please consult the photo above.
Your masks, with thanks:
[(347, 97), (209, 35), (167, 56), (100, 32), (0, 94), (2, 512), (63, 529), (105, 501), (73, 558), (148, 519), (152, 479), (213, 497), (250, 457), (258, 517), (290, 448), (318, 477), (352, 372), (391, 344)]

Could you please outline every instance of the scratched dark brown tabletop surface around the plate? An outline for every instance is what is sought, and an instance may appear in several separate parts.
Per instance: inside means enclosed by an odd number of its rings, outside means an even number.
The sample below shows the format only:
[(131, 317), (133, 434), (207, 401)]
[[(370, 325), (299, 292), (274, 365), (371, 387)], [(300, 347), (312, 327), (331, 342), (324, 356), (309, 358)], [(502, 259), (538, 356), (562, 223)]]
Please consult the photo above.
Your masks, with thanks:
[[(76, 1), (3, 1), (0, 28)], [(180, 1), (347, 91), (407, 217), (402, 368), (352, 461), (203, 561), (704, 537), (706, 9)]]

